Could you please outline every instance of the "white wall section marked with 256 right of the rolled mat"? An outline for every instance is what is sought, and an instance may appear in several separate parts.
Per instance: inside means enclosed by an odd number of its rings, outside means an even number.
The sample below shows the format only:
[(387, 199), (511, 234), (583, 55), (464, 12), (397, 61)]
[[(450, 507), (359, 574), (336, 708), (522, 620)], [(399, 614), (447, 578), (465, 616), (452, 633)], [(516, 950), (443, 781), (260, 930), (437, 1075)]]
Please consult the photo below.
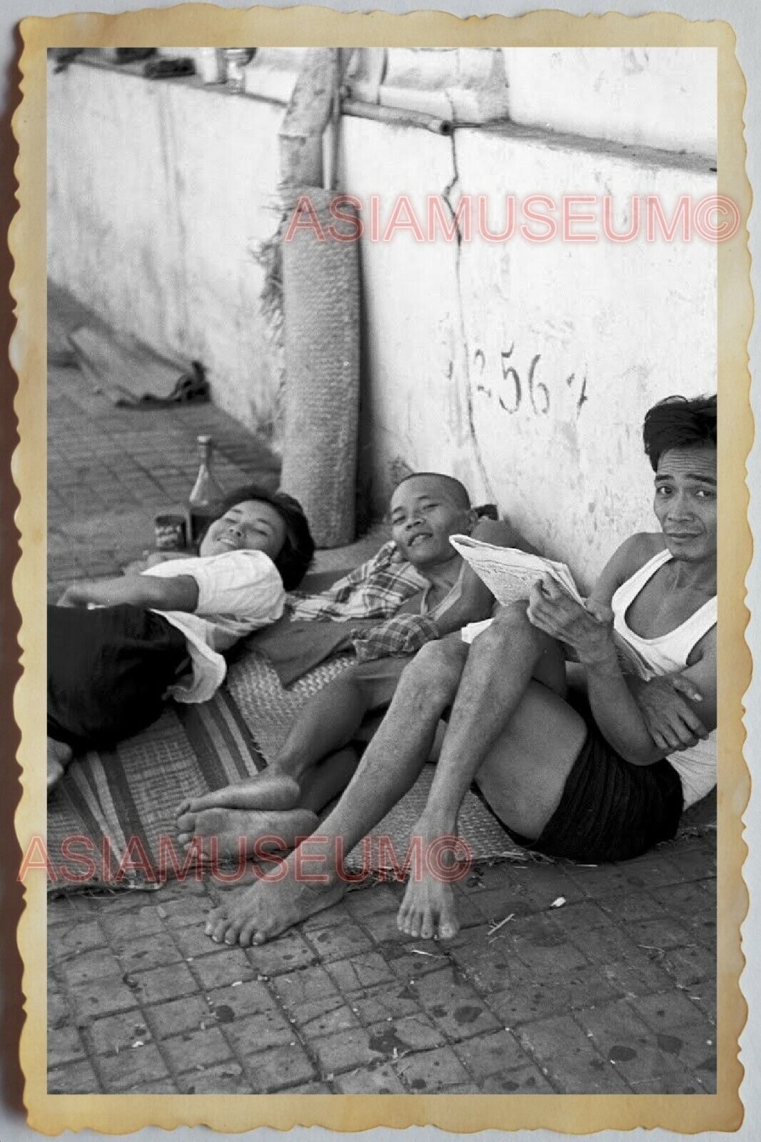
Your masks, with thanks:
[[(481, 129), (452, 142), (360, 120), (344, 131), (344, 185), (360, 199), (383, 186), (384, 201), (409, 194), (425, 217), (425, 195), (444, 193), (456, 170), (450, 200), (486, 194), (495, 231), (507, 191), (617, 203), (658, 194), (667, 218), (681, 194), (715, 192), (707, 164), (696, 172), (651, 153), (635, 160)], [(615, 222), (623, 231), (620, 212)], [(587, 585), (618, 541), (655, 526), (642, 417), (672, 393), (715, 391), (715, 246), (489, 244), (474, 234), (458, 252), (404, 233), (363, 240), (362, 266), (378, 504), (394, 460), (443, 468)]]

